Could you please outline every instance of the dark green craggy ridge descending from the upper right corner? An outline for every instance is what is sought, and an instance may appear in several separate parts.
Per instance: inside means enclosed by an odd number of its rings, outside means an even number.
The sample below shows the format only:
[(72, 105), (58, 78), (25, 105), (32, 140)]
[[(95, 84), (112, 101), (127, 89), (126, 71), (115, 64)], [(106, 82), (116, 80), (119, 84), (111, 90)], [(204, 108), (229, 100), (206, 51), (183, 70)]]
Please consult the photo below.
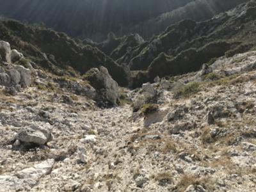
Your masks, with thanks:
[(134, 71), (134, 86), (192, 72), (214, 58), (255, 49), (255, 19), (256, 1), (250, 1), (204, 22), (182, 20), (116, 61)]

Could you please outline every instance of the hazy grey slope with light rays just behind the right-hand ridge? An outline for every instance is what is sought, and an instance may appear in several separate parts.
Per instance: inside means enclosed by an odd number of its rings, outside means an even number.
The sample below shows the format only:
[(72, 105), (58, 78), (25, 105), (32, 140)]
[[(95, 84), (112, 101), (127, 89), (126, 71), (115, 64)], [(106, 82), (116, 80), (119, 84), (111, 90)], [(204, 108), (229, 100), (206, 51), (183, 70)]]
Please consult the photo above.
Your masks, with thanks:
[(218, 13), (225, 12), (248, 1), (250, 0), (195, 0), (171, 12), (163, 13), (158, 17), (151, 18), (136, 26), (129, 26), (127, 28), (130, 28), (130, 32), (132, 33), (136, 32), (144, 37), (150, 37), (152, 34), (164, 31), (167, 26), (175, 24), (180, 20), (191, 19), (202, 21), (211, 19), (211, 17)]

